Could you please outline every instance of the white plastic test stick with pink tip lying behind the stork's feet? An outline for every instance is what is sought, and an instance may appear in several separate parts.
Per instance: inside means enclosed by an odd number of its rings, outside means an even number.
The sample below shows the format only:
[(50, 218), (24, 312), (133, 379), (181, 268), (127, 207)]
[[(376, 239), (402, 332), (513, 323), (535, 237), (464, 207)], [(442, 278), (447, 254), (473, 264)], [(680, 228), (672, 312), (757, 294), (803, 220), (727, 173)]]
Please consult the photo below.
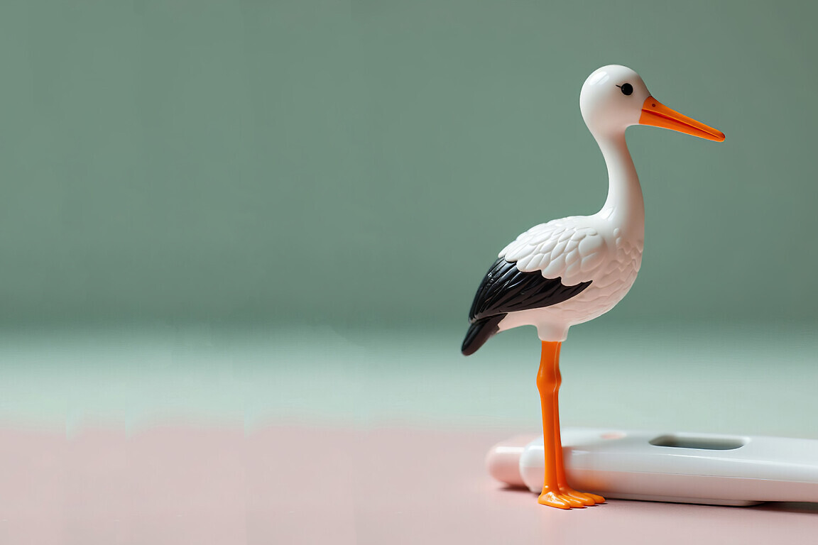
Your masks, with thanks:
[[(745, 506), (818, 502), (818, 440), (564, 428), (566, 476), (606, 498)], [(488, 453), (489, 473), (542, 490), (542, 436)]]

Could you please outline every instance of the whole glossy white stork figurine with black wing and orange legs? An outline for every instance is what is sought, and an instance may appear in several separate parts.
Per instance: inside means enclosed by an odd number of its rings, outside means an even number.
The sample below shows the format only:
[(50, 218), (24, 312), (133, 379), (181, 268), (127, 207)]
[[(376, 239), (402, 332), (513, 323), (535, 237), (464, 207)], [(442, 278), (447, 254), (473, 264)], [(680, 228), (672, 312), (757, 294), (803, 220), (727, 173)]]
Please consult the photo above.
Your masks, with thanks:
[(667, 108), (633, 70), (603, 66), (579, 96), (582, 118), (608, 167), (608, 199), (592, 216), (564, 217), (534, 226), (500, 252), (474, 296), (464, 355), (497, 332), (537, 328), (542, 342), (537, 389), (542, 403), (546, 475), (539, 503), (561, 509), (604, 503), (571, 489), (560, 441), (560, 346), (574, 324), (605, 314), (631, 289), (642, 261), (645, 204), (625, 143), (631, 125), (653, 125), (708, 140), (724, 134)]

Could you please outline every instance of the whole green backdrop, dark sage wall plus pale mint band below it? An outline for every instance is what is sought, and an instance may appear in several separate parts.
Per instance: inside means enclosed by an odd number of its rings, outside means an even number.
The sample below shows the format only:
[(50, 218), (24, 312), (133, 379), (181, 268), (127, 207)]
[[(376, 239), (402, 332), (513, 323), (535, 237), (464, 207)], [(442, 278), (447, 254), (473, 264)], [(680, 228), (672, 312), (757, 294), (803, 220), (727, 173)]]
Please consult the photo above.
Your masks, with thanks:
[(815, 437), (818, 7), (0, 2), (0, 422), (536, 431), (530, 328), (458, 349), (528, 227), (596, 212), (600, 65), (726, 133), (628, 132), (640, 277), (564, 425)]

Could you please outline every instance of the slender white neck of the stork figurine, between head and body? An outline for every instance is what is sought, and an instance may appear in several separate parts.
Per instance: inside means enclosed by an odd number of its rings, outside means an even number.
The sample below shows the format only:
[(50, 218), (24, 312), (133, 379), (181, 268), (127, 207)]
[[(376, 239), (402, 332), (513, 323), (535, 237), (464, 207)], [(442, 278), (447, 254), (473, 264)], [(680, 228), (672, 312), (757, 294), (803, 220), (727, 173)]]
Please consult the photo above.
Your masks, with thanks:
[(629, 238), (645, 236), (645, 200), (633, 159), (627, 150), (625, 132), (594, 135), (608, 166), (608, 199), (599, 212)]

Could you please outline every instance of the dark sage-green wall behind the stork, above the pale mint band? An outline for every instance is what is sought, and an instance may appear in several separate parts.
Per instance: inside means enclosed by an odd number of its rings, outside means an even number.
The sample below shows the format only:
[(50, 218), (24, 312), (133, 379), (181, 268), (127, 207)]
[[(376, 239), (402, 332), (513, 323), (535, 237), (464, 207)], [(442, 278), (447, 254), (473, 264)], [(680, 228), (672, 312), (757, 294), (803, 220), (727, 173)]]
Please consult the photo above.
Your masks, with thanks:
[(463, 324), (496, 252), (596, 212), (578, 92), (630, 65), (621, 319), (812, 319), (812, 2), (0, 4), (0, 320)]

